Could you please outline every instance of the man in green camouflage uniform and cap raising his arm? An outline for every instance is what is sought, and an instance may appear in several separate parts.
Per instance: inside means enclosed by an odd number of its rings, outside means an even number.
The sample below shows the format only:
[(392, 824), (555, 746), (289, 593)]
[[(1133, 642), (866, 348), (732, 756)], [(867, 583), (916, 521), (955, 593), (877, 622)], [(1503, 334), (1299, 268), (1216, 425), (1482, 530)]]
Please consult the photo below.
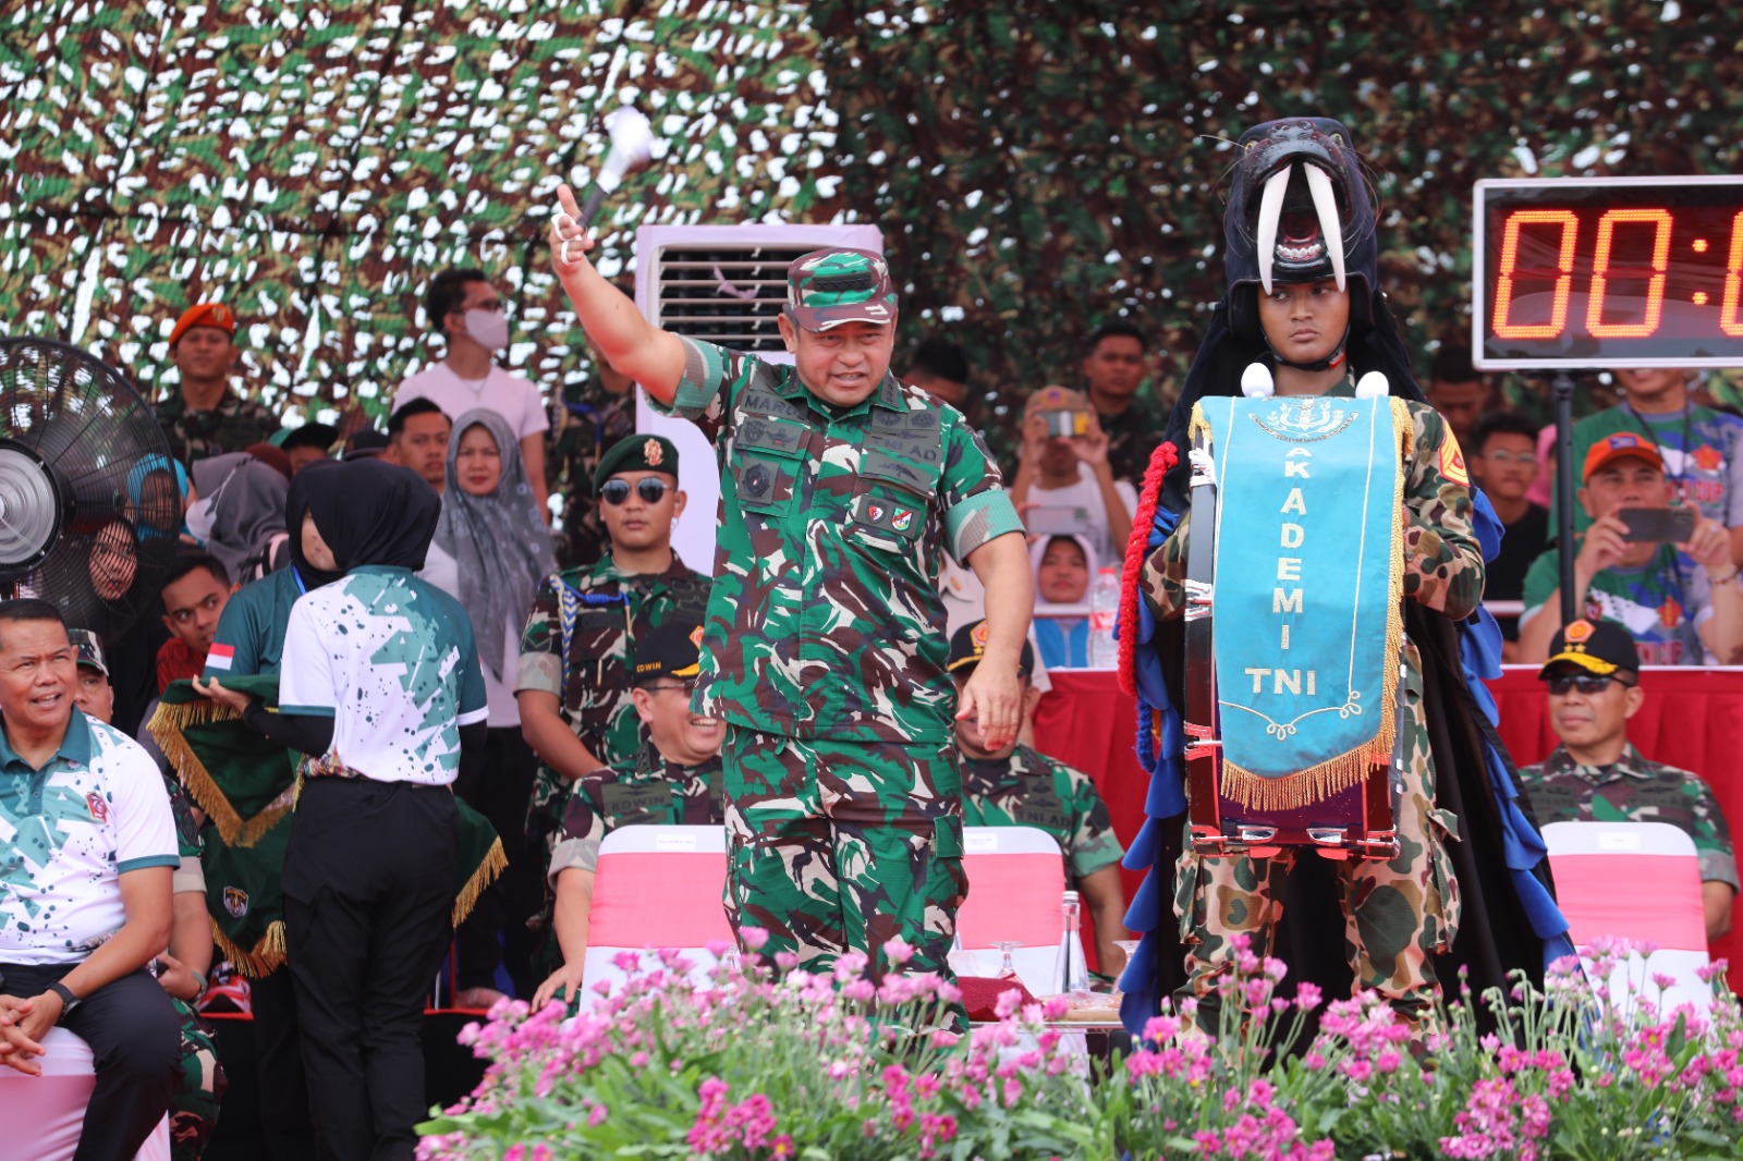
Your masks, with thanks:
[[(695, 708), (727, 722), (727, 912), (765, 954), (828, 969), (901, 936), (948, 971), (962, 875), (952, 711), (1006, 746), (1034, 607), (1021, 523), (962, 415), (889, 373), (896, 293), (882, 258), (816, 251), (788, 268), (791, 366), (650, 326), (586, 260), (573, 197), (556, 270), (594, 347), (720, 450), (715, 591)], [(960, 699), (945, 671), (938, 570), (987, 587), (987, 659)], [(960, 708), (959, 708), (960, 701)]]

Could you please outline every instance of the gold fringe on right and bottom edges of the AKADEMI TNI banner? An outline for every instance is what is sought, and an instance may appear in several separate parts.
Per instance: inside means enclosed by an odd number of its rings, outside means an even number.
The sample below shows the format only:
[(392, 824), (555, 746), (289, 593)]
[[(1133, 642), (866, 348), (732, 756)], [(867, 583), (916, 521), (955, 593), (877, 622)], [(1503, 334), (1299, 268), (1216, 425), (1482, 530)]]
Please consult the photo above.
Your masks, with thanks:
[[(1386, 655), (1389, 678), (1380, 683), (1380, 723), (1373, 737), (1335, 758), (1318, 762), (1306, 771), (1283, 777), (1264, 777), (1224, 758), (1222, 793), (1250, 811), (1299, 811), (1351, 786), (1363, 784), (1375, 767), (1387, 769), (1398, 744), (1398, 657), (1405, 647), (1405, 472), (1403, 462), (1415, 445), (1415, 420), (1410, 404), (1396, 396), (1391, 399), (1393, 438), (1398, 445), (1400, 471), (1393, 478), (1393, 554), (1389, 568), (1389, 603), (1386, 608)], [(1194, 413), (1196, 418), (1196, 413)]]

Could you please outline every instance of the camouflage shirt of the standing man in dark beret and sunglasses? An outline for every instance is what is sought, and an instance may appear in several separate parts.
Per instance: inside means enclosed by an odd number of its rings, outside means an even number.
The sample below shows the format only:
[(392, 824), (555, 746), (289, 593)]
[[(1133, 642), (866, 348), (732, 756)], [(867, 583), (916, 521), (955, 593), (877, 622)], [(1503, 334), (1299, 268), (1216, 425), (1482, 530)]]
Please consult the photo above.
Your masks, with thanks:
[[(546, 577), (521, 633), (519, 690), (554, 694), (563, 723), (601, 765), (633, 762), (645, 741), (641, 720), (629, 701), (629, 626), (645, 617), (661, 624), (676, 608), (701, 612), (708, 605), (708, 577), (673, 553), (662, 574), (627, 575), (610, 556), (591, 568), (570, 568)], [(565, 614), (570, 619), (565, 633)], [(563, 640), (568, 640), (568, 655)], [(528, 818), (547, 818), (539, 835), (556, 825), (563, 777), (540, 764)]]

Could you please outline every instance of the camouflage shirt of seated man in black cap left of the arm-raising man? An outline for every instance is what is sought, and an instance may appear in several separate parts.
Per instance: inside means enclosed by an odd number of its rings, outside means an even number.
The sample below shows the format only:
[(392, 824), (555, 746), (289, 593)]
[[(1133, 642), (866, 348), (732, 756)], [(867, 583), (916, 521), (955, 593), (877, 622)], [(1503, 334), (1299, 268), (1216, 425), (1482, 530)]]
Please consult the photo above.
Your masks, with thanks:
[(558, 872), (594, 870), (600, 842), (619, 826), (723, 825), (720, 758), (678, 765), (648, 743), (634, 762), (596, 771), (575, 783), (551, 851), (547, 884), (556, 884)]

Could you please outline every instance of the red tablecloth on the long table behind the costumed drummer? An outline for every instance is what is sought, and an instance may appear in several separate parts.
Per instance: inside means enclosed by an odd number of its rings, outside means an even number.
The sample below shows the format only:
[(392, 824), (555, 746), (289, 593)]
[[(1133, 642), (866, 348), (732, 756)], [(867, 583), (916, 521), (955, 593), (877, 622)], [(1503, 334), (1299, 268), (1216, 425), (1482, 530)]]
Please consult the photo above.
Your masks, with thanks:
[[(1138, 708), (1112, 671), (1049, 669), (1053, 690), (1035, 706), (1035, 744), (1089, 774), (1114, 814), (1114, 832), (1129, 847), (1143, 825), (1149, 776), (1136, 758)], [(1701, 774), (1733, 826), (1743, 826), (1743, 669), (1645, 669), (1645, 704), (1628, 723), (1628, 739), (1656, 762)], [(1501, 706), (1501, 737), (1520, 765), (1555, 748), (1548, 703), (1536, 668), (1509, 666), (1490, 683)], [(1143, 875), (1121, 870), (1129, 901)], [(1712, 947), (1740, 966), (1743, 933)], [(1093, 950), (1091, 950), (1093, 955)]]

